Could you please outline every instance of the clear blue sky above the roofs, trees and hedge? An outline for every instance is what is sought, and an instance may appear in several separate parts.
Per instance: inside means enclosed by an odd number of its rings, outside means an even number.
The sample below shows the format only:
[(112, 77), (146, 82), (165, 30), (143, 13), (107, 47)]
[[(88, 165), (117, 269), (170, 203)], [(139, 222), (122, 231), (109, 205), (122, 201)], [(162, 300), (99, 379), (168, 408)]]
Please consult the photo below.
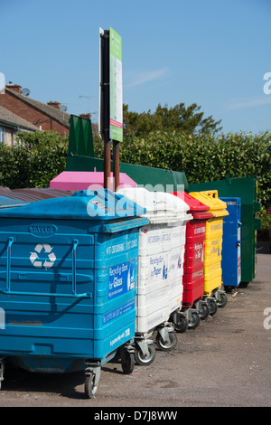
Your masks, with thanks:
[(129, 110), (197, 103), (224, 133), (271, 129), (270, 0), (0, 0), (0, 16), (0, 72), (33, 99), (97, 122), (98, 29), (111, 26)]

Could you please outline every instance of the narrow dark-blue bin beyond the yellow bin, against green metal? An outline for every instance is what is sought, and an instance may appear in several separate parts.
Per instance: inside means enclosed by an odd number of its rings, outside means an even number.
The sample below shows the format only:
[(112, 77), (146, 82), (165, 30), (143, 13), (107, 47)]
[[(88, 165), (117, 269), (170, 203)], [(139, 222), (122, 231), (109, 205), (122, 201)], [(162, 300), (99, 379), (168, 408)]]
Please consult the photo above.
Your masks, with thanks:
[(220, 197), (227, 203), (229, 215), (223, 221), (222, 280), (227, 291), (241, 282), (241, 198)]

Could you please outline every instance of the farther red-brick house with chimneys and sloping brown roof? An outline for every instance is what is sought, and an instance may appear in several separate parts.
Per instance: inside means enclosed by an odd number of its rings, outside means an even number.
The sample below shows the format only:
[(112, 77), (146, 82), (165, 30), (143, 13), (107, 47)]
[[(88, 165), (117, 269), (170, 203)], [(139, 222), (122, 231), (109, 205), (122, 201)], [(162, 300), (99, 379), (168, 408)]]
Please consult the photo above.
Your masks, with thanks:
[(70, 114), (61, 110), (60, 102), (42, 103), (22, 94), (22, 86), (9, 83), (0, 94), (0, 106), (10, 110), (43, 131), (69, 136)]

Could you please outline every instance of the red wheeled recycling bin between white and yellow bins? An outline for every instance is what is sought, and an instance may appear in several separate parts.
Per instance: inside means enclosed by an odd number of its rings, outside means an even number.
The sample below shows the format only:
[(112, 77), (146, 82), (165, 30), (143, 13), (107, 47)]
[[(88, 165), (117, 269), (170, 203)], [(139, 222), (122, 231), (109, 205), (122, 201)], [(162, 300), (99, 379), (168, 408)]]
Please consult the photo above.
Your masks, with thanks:
[(186, 192), (173, 192), (190, 206), (188, 213), (193, 219), (186, 224), (186, 241), (183, 263), (182, 311), (186, 314), (188, 327), (194, 329), (209, 316), (207, 302), (202, 300), (204, 290), (204, 250), (208, 205), (201, 203)]

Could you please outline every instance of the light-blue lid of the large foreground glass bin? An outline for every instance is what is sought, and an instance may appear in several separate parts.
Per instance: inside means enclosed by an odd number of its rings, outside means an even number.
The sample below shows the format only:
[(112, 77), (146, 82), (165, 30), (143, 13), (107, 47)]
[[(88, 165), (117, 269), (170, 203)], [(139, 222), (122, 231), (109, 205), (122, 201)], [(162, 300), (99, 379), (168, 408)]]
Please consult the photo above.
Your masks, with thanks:
[(51, 198), (0, 209), (1, 217), (53, 218), (69, 220), (115, 220), (145, 213), (145, 208), (109, 189), (79, 191), (69, 197)]

